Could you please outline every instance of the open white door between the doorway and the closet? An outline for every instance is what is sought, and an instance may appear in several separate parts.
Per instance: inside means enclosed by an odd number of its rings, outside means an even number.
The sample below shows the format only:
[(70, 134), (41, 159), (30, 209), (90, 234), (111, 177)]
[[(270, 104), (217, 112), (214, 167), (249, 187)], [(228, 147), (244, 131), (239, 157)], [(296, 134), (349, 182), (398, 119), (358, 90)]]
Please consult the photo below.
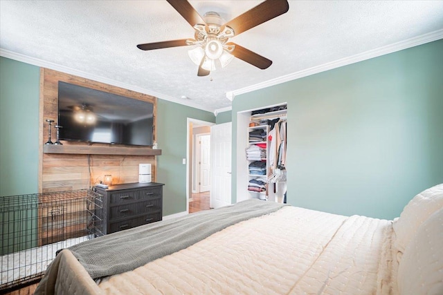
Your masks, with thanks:
[(218, 208), (231, 204), (230, 176), (232, 123), (217, 124), (210, 128), (210, 155), (212, 181), (210, 207)]

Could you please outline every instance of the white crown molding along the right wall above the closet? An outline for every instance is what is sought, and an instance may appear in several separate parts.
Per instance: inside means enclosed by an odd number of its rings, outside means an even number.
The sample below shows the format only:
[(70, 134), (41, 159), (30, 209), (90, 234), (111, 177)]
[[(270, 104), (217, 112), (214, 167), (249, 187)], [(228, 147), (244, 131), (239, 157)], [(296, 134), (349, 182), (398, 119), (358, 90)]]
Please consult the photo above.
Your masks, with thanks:
[(262, 83), (254, 84), (244, 88), (237, 89), (235, 91), (228, 91), (226, 97), (233, 101), (236, 95), (249, 93), (251, 91), (256, 91), (262, 88), (274, 86), (277, 84), (282, 84), (284, 82), (289, 82), (295, 79), (300, 79), (302, 77), (307, 77), (317, 73), (325, 72), (326, 70), (332, 70), (334, 68), (339, 68), (341, 66), (347, 66), (349, 64), (354, 64), (359, 61), (364, 61), (366, 59), (372, 59), (374, 57), (379, 57), (381, 55), (387, 55), (389, 53), (395, 53), (399, 50), (404, 50), (414, 46), (419, 46), (432, 41), (437, 41), (443, 39), (443, 30), (435, 30), (434, 32), (429, 32), (424, 35), (406, 39), (404, 41), (399, 41), (387, 46), (379, 47), (376, 49), (365, 51), (364, 53), (359, 53), (358, 55), (352, 55), (350, 57), (345, 57), (343, 59), (337, 59), (336, 61), (329, 62), (327, 64), (322, 64), (320, 66), (314, 66), (312, 68), (307, 68), (306, 70), (300, 70), (296, 73), (291, 73), (289, 75), (284, 75), (275, 79), (271, 79)]

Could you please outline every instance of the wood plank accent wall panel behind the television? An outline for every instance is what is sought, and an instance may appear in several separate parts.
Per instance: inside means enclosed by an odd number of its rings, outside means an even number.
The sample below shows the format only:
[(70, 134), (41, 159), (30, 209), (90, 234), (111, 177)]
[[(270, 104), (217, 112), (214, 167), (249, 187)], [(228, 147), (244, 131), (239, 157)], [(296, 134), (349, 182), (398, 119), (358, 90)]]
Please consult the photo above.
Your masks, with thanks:
[[(156, 97), (136, 93), (127, 89), (102, 84), (82, 77), (60, 73), (55, 70), (40, 70), (40, 110), (39, 110), (39, 192), (69, 191), (87, 189), (103, 180), (105, 174), (111, 174), (113, 184), (138, 182), (138, 164), (152, 164), (152, 181), (156, 181), (156, 158), (154, 155), (86, 155), (86, 154), (53, 154), (44, 153), (44, 143), (48, 140), (48, 123), (46, 119), (57, 123), (58, 82), (77, 84), (99, 91), (140, 99), (154, 104), (154, 131), (156, 136)], [(52, 129), (55, 142), (55, 128)], [(78, 146), (79, 150), (88, 146), (81, 142), (62, 142), (65, 146)], [(93, 146), (114, 147), (109, 144), (93, 144)], [(136, 146), (115, 145), (116, 148), (137, 149)], [(108, 148), (108, 149), (109, 149)], [(146, 148), (145, 148), (146, 149)]]

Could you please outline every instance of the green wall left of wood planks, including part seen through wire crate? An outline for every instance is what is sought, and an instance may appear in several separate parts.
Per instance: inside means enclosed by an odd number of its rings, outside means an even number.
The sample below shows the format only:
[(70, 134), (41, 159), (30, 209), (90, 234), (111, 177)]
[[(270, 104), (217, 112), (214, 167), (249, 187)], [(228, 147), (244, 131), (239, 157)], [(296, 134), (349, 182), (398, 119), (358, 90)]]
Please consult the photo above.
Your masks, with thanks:
[[(0, 198), (37, 193), (38, 115), (39, 68), (0, 57)], [(0, 200), (0, 255), (36, 246), (37, 203), (27, 198), (21, 210), (17, 198)]]

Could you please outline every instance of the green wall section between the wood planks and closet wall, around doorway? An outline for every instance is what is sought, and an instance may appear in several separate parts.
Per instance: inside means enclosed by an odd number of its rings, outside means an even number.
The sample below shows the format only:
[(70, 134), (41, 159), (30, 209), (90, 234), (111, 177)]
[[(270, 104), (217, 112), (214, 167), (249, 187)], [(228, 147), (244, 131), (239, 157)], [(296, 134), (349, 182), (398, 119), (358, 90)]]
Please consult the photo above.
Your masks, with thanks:
[(157, 157), (157, 182), (163, 187), (163, 216), (186, 211), (186, 130), (188, 117), (215, 122), (213, 113), (157, 101), (156, 140), (162, 154)]

